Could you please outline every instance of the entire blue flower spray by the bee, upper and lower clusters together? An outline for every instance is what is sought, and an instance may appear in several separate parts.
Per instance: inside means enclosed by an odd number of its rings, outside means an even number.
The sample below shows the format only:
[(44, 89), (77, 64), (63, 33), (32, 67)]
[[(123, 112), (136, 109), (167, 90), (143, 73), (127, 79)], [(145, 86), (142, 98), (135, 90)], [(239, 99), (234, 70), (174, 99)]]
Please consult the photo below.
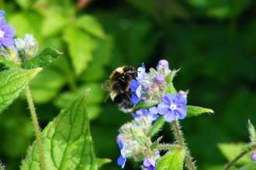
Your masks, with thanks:
[(187, 92), (177, 93), (175, 90), (170, 90), (172, 80), (170, 76), (175, 76), (177, 71), (169, 70), (168, 66), (168, 61), (162, 59), (157, 64), (156, 70), (150, 68), (150, 72), (146, 73), (143, 63), (137, 70), (136, 80), (130, 82), (133, 92), (131, 101), (135, 106), (140, 105), (140, 109), (131, 114), (134, 117), (132, 122), (119, 128), (116, 142), (121, 155), (117, 163), (122, 168), (126, 158), (131, 157), (137, 162), (143, 161), (144, 168), (154, 170), (160, 158), (160, 148), (164, 146), (161, 144), (161, 147), (157, 148), (161, 138), (152, 142), (148, 136), (154, 135), (151, 130), (159, 131), (161, 128), (158, 125), (154, 126), (154, 121), (157, 121), (161, 115), (164, 117), (161, 120), (167, 122), (186, 117)]

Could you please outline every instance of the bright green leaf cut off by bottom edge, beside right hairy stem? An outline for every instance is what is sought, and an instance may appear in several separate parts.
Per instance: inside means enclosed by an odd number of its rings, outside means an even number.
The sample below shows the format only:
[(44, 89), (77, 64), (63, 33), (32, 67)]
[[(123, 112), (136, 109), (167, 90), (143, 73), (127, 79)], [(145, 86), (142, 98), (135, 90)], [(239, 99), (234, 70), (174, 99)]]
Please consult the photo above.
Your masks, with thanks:
[(185, 158), (185, 149), (180, 148), (166, 153), (157, 161), (155, 170), (182, 170)]

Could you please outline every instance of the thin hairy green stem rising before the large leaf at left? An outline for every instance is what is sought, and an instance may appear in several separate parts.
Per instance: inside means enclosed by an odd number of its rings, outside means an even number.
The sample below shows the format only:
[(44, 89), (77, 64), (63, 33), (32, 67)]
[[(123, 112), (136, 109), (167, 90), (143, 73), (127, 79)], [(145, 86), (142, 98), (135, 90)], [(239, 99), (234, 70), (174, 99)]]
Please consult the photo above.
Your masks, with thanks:
[(36, 110), (35, 110), (35, 107), (33, 104), (33, 98), (31, 96), (28, 84), (26, 84), (25, 92), (26, 92), (26, 98), (28, 100), (29, 110), (31, 113), (31, 117), (32, 117), (34, 129), (35, 129), (35, 133), (36, 133), (36, 141), (37, 141), (36, 144), (39, 149), (41, 169), (45, 170), (46, 166), (45, 166), (45, 162), (44, 162), (44, 158), (43, 158), (43, 145), (42, 145), (42, 140), (41, 140), (41, 136), (40, 136), (40, 128), (39, 128), (39, 124), (38, 124), (37, 117), (36, 117)]

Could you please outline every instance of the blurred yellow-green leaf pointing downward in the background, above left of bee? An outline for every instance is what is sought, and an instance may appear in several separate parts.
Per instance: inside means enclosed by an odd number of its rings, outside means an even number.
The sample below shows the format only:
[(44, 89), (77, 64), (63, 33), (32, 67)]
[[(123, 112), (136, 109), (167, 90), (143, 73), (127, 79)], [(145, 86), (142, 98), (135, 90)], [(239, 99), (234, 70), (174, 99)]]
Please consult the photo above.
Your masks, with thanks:
[(76, 75), (80, 75), (92, 60), (92, 50), (95, 49), (95, 41), (75, 27), (68, 27), (64, 31), (64, 41), (68, 44), (68, 51)]

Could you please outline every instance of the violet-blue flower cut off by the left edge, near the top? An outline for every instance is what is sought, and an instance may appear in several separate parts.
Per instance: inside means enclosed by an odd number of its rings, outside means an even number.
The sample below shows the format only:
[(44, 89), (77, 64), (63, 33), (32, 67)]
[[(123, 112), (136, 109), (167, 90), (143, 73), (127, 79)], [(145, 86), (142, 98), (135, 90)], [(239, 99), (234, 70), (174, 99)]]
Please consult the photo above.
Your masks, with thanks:
[(0, 17), (0, 46), (12, 46), (14, 44), (13, 37), (15, 36), (15, 29), (6, 24), (4, 17)]

